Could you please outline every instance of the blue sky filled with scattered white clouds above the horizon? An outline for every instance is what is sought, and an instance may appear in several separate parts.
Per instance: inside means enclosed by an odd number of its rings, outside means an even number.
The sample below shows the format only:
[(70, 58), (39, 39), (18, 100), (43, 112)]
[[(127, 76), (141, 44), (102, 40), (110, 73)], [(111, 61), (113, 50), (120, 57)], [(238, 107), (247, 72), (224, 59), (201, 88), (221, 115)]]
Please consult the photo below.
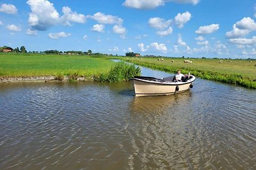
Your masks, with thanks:
[(256, 59), (252, 0), (0, 0), (0, 46)]

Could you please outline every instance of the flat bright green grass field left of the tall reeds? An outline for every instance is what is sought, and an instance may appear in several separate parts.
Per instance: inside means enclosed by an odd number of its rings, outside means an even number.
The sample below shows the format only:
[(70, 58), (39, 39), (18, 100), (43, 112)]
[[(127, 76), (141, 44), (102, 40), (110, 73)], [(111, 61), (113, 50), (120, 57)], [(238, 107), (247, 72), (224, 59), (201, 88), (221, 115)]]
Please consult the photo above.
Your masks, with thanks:
[(0, 77), (85, 76), (106, 73), (115, 63), (106, 57), (0, 53)]

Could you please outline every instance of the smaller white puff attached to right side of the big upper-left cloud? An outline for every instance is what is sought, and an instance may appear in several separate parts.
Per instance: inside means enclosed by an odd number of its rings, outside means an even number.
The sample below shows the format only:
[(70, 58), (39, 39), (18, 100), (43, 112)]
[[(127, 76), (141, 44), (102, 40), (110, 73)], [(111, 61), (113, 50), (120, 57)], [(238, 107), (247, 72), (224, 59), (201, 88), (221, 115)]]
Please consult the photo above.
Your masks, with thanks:
[(78, 22), (78, 23), (84, 23), (86, 18), (83, 14), (78, 14), (76, 12), (71, 11), (71, 8), (69, 8), (68, 6), (63, 6), (62, 7), (62, 12), (64, 13), (64, 15), (61, 17), (63, 20), (65, 20), (65, 22), (67, 23), (67, 25), (70, 25), (70, 22)]

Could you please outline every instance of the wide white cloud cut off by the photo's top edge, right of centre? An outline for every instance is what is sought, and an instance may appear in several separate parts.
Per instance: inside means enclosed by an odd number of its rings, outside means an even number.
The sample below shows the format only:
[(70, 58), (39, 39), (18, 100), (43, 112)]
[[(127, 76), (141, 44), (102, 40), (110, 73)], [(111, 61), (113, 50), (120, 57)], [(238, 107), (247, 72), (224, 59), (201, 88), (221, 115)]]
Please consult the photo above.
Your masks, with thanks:
[(200, 0), (125, 0), (123, 6), (137, 9), (154, 9), (168, 2), (197, 4)]

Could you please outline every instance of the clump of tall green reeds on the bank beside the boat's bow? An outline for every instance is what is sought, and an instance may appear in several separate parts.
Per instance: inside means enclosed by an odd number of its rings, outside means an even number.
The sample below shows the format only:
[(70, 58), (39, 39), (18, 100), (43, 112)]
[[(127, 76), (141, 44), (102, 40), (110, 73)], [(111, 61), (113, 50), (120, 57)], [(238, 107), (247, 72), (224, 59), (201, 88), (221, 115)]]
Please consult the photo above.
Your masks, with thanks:
[(135, 67), (131, 64), (118, 62), (115, 67), (112, 67), (108, 73), (102, 73), (94, 76), (95, 81), (100, 82), (113, 82), (113, 81), (128, 81), (134, 76), (140, 76), (140, 67)]

